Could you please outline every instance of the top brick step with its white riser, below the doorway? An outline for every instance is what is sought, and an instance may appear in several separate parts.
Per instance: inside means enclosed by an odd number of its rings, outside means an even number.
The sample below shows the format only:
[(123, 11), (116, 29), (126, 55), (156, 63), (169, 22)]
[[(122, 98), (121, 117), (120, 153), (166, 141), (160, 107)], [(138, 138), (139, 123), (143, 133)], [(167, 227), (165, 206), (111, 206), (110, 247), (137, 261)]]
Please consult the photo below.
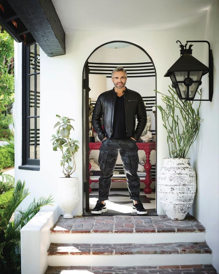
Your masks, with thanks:
[(50, 236), (53, 243), (128, 243), (130, 236), (132, 243), (204, 242), (205, 228), (190, 214), (182, 221), (167, 216), (61, 216)]

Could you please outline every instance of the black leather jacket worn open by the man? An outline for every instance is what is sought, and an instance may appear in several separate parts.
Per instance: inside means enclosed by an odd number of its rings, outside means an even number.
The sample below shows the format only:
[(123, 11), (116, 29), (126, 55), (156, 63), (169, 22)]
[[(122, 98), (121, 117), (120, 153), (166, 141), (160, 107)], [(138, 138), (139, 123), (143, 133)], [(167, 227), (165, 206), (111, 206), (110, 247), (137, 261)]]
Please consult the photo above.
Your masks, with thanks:
[[(103, 92), (97, 98), (92, 115), (92, 125), (98, 138), (102, 141), (106, 136), (112, 136), (112, 123), (114, 117), (115, 99), (117, 93), (114, 88)], [(138, 141), (147, 123), (146, 107), (138, 92), (131, 89), (124, 91), (126, 133), (127, 137), (133, 137)], [(104, 130), (101, 126), (101, 117), (104, 120)], [(137, 127), (135, 129), (135, 119), (137, 117)]]

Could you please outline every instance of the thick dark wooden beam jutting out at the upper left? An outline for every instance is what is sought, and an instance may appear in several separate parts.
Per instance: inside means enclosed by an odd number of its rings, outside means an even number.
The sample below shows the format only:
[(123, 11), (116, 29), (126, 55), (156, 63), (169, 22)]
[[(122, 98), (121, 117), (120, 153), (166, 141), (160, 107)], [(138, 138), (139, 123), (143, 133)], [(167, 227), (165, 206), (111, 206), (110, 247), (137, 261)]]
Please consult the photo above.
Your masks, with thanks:
[(28, 44), (35, 39), (49, 57), (65, 54), (65, 32), (51, 0), (7, 2), (32, 35), (32, 38), (30, 35), (26, 37)]

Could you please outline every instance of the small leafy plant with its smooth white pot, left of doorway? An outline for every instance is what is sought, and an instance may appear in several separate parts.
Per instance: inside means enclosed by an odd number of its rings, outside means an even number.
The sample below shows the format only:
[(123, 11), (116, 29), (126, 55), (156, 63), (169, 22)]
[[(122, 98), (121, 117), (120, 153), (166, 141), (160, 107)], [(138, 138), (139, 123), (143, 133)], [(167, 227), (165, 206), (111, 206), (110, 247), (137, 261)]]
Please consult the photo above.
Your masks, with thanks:
[[(78, 178), (71, 177), (70, 175), (75, 171), (76, 163), (74, 160), (74, 154), (78, 151), (79, 141), (70, 138), (71, 129), (74, 130), (71, 125), (71, 120), (68, 117), (61, 117), (56, 114), (60, 121), (58, 121), (54, 128), (58, 126), (56, 134), (52, 134), (50, 141), (53, 145), (53, 150), (57, 151), (59, 148), (62, 151), (62, 159), (60, 165), (62, 172), (65, 177), (58, 178), (58, 192), (57, 192), (57, 203), (63, 211), (63, 217), (65, 219), (73, 218), (72, 211), (76, 208), (79, 202), (79, 187)], [(74, 121), (74, 120), (73, 120)], [(72, 164), (70, 165), (70, 163)]]

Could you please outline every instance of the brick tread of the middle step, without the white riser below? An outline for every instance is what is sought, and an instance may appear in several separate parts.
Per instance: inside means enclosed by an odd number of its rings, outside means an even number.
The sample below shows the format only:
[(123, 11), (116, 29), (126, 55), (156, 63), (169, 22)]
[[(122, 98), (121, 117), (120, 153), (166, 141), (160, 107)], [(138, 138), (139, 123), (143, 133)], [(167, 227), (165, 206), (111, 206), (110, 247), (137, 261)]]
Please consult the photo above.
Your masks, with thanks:
[(206, 242), (159, 244), (54, 244), (48, 255), (132, 255), (132, 254), (189, 254), (212, 253)]

